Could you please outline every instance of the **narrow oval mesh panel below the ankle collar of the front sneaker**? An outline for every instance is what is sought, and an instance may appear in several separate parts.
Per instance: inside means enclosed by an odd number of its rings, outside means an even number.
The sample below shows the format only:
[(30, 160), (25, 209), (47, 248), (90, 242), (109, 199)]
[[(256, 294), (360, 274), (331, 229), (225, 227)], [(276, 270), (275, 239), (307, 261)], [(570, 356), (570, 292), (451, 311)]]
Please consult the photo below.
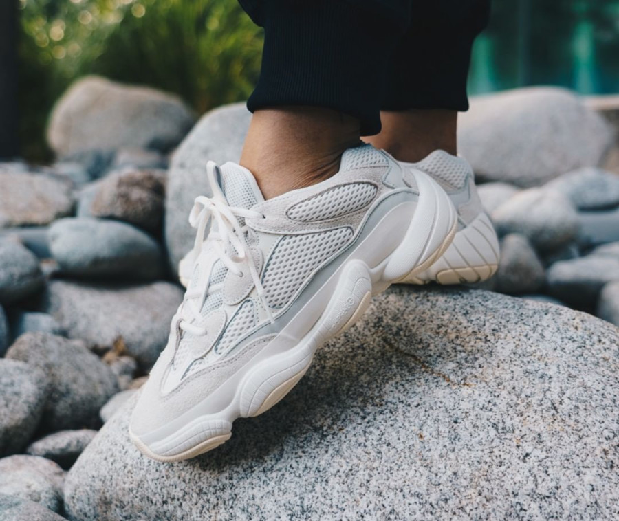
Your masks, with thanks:
[(295, 221), (324, 221), (356, 212), (369, 205), (378, 189), (371, 183), (349, 183), (334, 186), (310, 199), (291, 206), (286, 212)]

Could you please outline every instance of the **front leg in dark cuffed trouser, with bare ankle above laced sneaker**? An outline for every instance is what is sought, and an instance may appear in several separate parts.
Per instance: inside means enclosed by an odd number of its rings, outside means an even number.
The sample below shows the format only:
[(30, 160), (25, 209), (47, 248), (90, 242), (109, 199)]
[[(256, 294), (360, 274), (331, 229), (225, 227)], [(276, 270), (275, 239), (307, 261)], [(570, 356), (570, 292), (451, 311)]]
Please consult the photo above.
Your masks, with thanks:
[(387, 58), (408, 16), (406, 2), (386, 3), (391, 16), (378, 2), (241, 0), (265, 29), (241, 156), (265, 197), (334, 175), (360, 135), (380, 131)]

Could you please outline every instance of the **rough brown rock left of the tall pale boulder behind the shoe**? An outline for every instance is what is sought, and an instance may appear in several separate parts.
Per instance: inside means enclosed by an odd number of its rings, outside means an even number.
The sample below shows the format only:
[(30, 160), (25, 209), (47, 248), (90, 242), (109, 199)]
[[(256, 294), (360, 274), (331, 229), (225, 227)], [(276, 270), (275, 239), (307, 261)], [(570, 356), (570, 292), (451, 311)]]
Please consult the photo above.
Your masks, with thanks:
[(166, 175), (162, 170), (123, 170), (101, 181), (91, 204), (96, 217), (125, 221), (160, 234)]

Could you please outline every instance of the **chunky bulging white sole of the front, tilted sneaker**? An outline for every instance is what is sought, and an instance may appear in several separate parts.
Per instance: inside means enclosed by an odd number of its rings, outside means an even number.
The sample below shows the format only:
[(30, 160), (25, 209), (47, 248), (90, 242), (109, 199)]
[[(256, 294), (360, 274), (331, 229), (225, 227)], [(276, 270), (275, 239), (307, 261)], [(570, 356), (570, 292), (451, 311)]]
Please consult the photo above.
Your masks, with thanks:
[[(425, 174), (415, 174), (415, 177), (420, 197), (413, 219), (410, 213), (393, 212), (399, 215), (396, 218), (406, 219), (408, 228), (387, 258), (370, 267), (360, 257), (363, 252), (376, 250), (375, 235), (380, 236), (389, 229), (389, 223), (393, 222), (389, 221), (391, 214), (383, 217), (274, 340), (201, 402), (204, 407), (208, 402), (209, 410), (219, 408), (217, 412), (197, 414), (191, 421), (177, 419), (141, 437), (129, 430), (138, 449), (157, 461), (171, 463), (193, 458), (221, 445), (230, 438), (235, 419), (262, 414), (283, 399), (310, 368), (318, 347), (353, 326), (369, 307), (373, 295), (394, 282), (415, 276), (435, 262), (453, 241), (457, 214), (453, 203), (435, 181)], [(316, 310), (319, 314), (314, 320)], [(295, 328), (307, 329), (308, 320), (312, 320), (313, 325), (301, 340), (292, 347), (282, 348), (286, 338), (294, 337)], [(279, 337), (283, 340), (278, 343)], [(191, 413), (199, 410), (201, 404)]]

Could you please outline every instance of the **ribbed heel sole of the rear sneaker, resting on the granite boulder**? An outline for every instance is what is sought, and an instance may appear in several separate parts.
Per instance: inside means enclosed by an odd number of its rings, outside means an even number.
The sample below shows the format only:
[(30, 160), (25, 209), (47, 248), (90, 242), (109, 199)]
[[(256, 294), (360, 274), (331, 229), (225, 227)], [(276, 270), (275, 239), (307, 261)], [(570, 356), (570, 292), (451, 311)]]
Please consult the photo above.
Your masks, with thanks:
[(474, 284), (492, 277), (499, 267), (499, 241), (485, 212), (457, 234), (437, 261), (424, 271), (411, 274), (405, 284)]

